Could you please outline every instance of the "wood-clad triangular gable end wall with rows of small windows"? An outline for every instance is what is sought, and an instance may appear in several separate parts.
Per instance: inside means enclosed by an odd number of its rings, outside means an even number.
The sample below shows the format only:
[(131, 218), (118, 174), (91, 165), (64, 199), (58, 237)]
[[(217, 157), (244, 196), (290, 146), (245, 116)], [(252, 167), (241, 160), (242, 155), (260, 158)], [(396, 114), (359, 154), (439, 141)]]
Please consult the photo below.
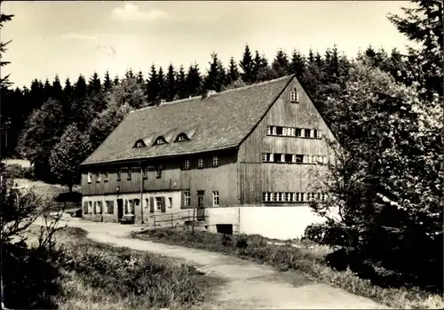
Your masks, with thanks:
[[(298, 103), (290, 102), (290, 92), (294, 88), (299, 93)], [(267, 125), (317, 129), (328, 139), (334, 139), (304, 89), (294, 79), (239, 149), (239, 180), (243, 204), (261, 204), (263, 192), (310, 191), (313, 175), (325, 169), (321, 165), (309, 163), (262, 163), (263, 153), (330, 157), (324, 139), (267, 136)]]

